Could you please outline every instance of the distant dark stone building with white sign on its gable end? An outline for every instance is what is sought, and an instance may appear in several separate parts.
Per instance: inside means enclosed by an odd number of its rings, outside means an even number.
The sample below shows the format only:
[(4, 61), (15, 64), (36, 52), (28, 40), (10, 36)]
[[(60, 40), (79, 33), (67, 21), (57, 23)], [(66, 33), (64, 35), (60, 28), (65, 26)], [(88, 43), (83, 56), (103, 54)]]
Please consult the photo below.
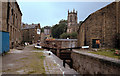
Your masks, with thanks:
[[(38, 31), (39, 30), (39, 31)], [(23, 24), (22, 28), (22, 42), (28, 42), (30, 44), (36, 43), (40, 40), (40, 24)]]

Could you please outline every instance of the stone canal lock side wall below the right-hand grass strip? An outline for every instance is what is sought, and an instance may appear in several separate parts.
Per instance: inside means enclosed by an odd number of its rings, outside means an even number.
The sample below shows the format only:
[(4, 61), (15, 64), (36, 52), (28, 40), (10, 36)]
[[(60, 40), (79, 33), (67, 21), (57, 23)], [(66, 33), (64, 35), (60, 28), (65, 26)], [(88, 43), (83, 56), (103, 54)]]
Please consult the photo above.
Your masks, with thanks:
[(74, 50), (73, 68), (80, 74), (119, 74), (120, 60)]

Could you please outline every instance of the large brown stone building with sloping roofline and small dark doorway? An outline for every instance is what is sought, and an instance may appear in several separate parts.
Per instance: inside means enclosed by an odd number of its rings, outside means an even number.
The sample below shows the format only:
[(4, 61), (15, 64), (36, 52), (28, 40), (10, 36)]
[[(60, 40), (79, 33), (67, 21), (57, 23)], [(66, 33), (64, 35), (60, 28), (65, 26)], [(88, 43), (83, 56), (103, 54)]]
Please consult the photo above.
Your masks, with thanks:
[(78, 46), (120, 47), (120, 2), (113, 2), (90, 14), (78, 30)]

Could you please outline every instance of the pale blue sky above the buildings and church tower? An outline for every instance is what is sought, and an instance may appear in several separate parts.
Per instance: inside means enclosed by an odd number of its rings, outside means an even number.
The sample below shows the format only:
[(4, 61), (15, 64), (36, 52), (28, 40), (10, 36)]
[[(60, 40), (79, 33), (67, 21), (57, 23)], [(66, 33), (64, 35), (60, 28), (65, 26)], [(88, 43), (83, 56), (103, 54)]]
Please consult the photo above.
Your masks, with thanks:
[(110, 2), (19, 2), (22, 11), (22, 22), (38, 24), (41, 27), (58, 24), (61, 19), (67, 20), (68, 9), (75, 9), (78, 22), (84, 21), (91, 13), (110, 4)]

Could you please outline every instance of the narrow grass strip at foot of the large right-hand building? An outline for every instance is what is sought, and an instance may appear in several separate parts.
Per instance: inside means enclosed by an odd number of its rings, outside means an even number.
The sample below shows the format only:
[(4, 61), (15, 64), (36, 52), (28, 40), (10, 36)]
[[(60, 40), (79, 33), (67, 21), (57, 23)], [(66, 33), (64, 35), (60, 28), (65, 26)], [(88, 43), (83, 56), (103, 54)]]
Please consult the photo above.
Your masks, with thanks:
[(120, 59), (120, 56), (117, 56), (114, 54), (114, 51), (97, 51), (97, 52), (88, 52), (88, 53), (93, 53), (93, 54), (98, 54), (98, 55), (103, 55), (111, 58), (117, 58)]

